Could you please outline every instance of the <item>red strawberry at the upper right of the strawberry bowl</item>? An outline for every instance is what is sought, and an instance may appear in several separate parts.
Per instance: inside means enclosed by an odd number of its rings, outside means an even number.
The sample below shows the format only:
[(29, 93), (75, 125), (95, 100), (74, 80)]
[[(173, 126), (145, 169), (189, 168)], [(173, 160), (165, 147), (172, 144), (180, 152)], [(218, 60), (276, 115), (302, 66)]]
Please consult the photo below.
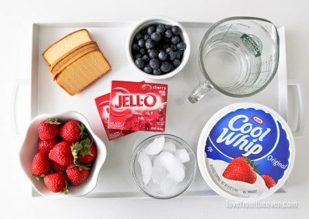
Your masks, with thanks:
[(84, 124), (77, 120), (68, 120), (60, 128), (59, 134), (68, 142), (79, 142), (80, 138), (84, 135)]

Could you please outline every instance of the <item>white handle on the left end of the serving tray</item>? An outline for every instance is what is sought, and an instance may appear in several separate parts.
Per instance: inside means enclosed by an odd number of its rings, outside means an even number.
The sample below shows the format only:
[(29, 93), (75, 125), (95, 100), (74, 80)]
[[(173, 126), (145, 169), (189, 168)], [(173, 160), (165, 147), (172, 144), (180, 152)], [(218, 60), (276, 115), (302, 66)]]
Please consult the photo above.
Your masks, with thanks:
[(17, 79), (12, 86), (10, 118), (16, 138), (25, 133), (30, 122), (30, 79)]

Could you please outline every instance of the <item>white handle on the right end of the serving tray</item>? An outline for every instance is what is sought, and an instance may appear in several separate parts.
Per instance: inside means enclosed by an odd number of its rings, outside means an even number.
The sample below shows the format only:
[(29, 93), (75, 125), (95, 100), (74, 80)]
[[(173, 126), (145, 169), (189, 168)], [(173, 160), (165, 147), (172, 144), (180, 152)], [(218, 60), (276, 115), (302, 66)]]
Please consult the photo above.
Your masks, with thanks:
[(305, 105), (302, 95), (301, 82), (288, 79), (288, 125), (294, 137), (303, 136)]

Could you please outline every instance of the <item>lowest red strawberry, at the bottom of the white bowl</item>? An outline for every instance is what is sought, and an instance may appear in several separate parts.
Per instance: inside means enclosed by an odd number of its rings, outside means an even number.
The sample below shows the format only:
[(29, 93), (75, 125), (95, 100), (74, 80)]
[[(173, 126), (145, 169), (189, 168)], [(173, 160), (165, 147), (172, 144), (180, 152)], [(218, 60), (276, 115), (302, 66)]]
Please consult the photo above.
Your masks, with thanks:
[(61, 172), (53, 172), (46, 175), (43, 179), (46, 187), (52, 192), (64, 192), (67, 194), (67, 177)]

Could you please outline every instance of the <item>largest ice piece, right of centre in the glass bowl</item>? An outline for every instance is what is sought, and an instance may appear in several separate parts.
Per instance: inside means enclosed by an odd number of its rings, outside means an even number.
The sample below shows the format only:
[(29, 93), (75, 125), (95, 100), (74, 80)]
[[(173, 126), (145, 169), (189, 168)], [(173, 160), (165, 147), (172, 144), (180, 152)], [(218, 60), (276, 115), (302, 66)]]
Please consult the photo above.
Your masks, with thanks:
[(185, 167), (172, 153), (163, 151), (160, 153), (158, 159), (163, 167), (168, 170), (168, 177), (174, 179), (176, 182), (181, 182), (185, 178)]

